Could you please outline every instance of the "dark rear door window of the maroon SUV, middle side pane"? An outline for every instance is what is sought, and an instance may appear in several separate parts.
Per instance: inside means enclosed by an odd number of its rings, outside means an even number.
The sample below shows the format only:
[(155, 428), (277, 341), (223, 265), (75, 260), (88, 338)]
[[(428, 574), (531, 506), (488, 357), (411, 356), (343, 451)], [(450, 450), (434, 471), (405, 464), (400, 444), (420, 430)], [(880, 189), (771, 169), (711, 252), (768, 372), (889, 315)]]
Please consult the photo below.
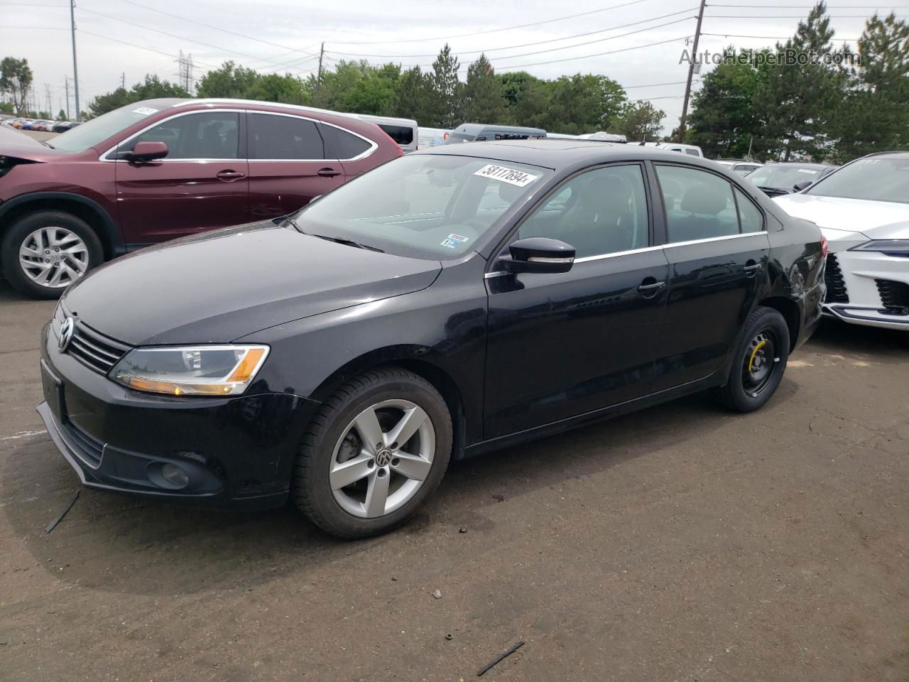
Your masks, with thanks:
[(322, 159), (325, 150), (315, 123), (296, 116), (247, 114), (251, 159)]

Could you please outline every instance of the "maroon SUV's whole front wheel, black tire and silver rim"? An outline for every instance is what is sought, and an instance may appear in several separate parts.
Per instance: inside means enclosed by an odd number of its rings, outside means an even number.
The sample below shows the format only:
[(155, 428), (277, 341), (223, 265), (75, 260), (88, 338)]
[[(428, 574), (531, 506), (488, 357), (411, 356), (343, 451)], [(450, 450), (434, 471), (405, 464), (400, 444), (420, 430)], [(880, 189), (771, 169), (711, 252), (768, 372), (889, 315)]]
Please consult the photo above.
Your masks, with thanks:
[(0, 247), (3, 272), (26, 296), (57, 298), (104, 258), (101, 241), (82, 218), (63, 211), (20, 217)]

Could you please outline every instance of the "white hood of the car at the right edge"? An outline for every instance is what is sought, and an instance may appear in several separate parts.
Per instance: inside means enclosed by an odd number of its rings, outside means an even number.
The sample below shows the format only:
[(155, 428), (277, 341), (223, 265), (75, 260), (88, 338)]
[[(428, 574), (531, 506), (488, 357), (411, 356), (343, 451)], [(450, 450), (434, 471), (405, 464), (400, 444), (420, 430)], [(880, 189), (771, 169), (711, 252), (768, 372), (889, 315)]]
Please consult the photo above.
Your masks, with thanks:
[(909, 204), (891, 201), (803, 194), (777, 196), (774, 201), (790, 216), (819, 226), (831, 241), (860, 235), (868, 239), (894, 239), (890, 236), (894, 229), (909, 223)]

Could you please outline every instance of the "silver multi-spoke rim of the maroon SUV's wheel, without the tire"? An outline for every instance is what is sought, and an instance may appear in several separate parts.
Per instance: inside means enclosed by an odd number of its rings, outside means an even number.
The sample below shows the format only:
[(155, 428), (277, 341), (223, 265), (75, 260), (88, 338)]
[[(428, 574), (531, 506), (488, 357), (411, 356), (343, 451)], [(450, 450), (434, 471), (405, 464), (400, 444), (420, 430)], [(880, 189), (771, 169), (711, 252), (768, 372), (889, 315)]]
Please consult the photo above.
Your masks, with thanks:
[(25, 237), (19, 265), (35, 284), (52, 289), (70, 286), (88, 269), (88, 247), (65, 227), (42, 227)]

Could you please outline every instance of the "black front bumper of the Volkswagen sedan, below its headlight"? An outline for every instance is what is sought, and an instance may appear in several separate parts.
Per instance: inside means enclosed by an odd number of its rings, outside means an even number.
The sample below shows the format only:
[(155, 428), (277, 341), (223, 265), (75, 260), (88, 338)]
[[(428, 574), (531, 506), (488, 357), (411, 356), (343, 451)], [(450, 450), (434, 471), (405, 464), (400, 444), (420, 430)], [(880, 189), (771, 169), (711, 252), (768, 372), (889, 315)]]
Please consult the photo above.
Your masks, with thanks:
[[(57, 352), (55, 341), (45, 326), (45, 400), (37, 411), (85, 486), (214, 506), (285, 504), (317, 402), (282, 393), (142, 394)], [(168, 464), (182, 469), (188, 484), (171, 485), (162, 473)]]

